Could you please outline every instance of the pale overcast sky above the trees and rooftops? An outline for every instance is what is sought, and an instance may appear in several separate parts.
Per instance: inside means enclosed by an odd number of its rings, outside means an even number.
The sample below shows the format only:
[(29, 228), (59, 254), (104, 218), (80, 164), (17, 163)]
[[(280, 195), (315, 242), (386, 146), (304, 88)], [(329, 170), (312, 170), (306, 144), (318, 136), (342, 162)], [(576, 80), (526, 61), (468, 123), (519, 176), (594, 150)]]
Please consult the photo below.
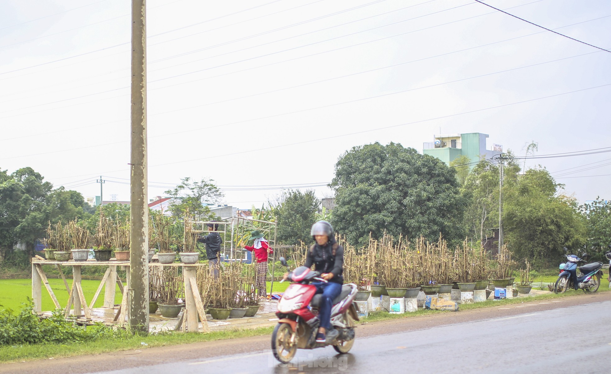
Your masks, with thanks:
[[(608, 0), (487, 2), (611, 48)], [(518, 155), (611, 146), (611, 53), (472, 0), (147, 3), (149, 196), (207, 177), (249, 208), (281, 190), (233, 186), (324, 185), (353, 146), (422, 152), (440, 131)], [(0, 168), (84, 196), (102, 175), (129, 200), (129, 42), (128, 0), (2, 1)], [(611, 153), (535, 164), (611, 197)]]

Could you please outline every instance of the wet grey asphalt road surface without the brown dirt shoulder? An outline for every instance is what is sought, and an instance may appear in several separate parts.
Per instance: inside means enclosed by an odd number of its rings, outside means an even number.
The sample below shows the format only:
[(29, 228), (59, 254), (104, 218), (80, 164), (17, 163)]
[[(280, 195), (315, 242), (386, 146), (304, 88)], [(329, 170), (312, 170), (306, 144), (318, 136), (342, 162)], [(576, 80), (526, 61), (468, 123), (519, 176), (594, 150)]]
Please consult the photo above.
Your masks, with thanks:
[(288, 365), (265, 349), (99, 373), (609, 373), (610, 311), (602, 301), (365, 337), (349, 354), (299, 350)]

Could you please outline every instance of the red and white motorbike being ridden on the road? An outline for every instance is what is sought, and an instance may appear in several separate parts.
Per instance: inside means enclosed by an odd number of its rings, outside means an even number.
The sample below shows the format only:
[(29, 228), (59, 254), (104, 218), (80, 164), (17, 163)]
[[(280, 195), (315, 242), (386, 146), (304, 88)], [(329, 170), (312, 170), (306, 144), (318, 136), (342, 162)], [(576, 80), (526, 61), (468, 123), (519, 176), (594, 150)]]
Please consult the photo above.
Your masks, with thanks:
[[(284, 257), (280, 257), (280, 262), (288, 269)], [(354, 322), (359, 320), (353, 305), (358, 290), (356, 284), (344, 284), (340, 295), (333, 300), (331, 326), (337, 330), (337, 336), (331, 338), (335, 334), (327, 331), (327, 341), (317, 343), (316, 333), (320, 325), (318, 307), (323, 295), (315, 295), (316, 287), (309, 283), (326, 280), (320, 278), (319, 272), (304, 266), (289, 272), (288, 280), (294, 283), (288, 286), (278, 301), (276, 315), (279, 321), (271, 336), (274, 357), (286, 364), (295, 357), (298, 348), (310, 350), (327, 345), (332, 345), (338, 353), (348, 353), (354, 344)]]

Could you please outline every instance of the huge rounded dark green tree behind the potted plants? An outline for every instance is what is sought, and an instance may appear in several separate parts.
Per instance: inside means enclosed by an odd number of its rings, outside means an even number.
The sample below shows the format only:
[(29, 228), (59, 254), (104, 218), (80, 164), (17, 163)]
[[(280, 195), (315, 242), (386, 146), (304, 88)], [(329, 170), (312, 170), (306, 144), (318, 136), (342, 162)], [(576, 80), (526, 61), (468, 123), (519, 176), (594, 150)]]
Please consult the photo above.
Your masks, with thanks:
[(435, 157), (400, 144), (373, 143), (347, 151), (335, 165), (336, 207), (332, 223), (352, 243), (386, 231), (398, 237), (441, 233), (450, 240), (463, 237), (466, 199), (455, 170)]

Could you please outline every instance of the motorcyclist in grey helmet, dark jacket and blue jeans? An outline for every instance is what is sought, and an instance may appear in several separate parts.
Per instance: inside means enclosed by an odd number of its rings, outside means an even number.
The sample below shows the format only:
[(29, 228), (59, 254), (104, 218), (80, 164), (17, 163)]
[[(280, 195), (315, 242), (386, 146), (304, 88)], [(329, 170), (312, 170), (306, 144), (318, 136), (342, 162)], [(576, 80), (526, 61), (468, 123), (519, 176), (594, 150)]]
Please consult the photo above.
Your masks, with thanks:
[[(331, 309), (333, 300), (342, 293), (343, 284), (343, 248), (333, 235), (333, 227), (327, 221), (318, 221), (312, 225), (310, 235), (315, 240), (305, 256), (305, 267), (312, 267), (320, 272), (320, 278), (327, 282), (312, 282), (316, 287), (316, 293), (323, 294), (323, 300), (318, 307), (318, 319), (320, 327), (316, 334), (316, 342), (324, 343), (333, 340), (338, 332), (331, 328)], [(285, 274), (285, 278), (288, 274)]]

